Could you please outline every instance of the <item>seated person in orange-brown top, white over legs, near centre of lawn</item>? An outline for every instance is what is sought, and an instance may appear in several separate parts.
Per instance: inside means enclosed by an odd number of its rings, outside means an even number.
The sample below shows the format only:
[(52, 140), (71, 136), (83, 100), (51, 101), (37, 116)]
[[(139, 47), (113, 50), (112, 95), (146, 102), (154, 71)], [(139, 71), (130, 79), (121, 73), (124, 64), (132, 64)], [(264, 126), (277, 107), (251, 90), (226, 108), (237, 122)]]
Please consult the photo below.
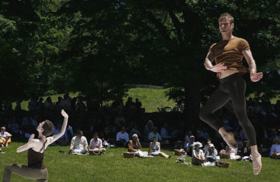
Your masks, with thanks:
[(146, 158), (148, 156), (148, 152), (141, 151), (142, 146), (137, 134), (132, 135), (132, 139), (128, 141), (127, 146), (129, 152), (134, 152), (134, 156), (138, 156), (140, 158)]

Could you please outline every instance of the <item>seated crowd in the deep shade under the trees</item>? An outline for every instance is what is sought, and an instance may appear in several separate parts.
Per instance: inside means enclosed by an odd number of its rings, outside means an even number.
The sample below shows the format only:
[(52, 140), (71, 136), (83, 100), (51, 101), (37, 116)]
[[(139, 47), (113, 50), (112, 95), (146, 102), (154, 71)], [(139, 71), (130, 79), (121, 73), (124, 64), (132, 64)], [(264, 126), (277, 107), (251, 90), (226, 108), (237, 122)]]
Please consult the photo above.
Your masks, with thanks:
[[(189, 156), (193, 155), (193, 144), (197, 141), (204, 148), (214, 144), (216, 150), (226, 150), (225, 142), (221, 139), (221, 136), (200, 121), (195, 125), (189, 125), (180, 120), (176, 122), (165, 120), (162, 123), (159, 120), (155, 123), (151, 119), (141, 120), (139, 112), (143, 113), (142, 104), (139, 99), (135, 99), (135, 102), (133, 102), (132, 97), (129, 97), (125, 104), (123, 104), (123, 100), (118, 100), (113, 102), (111, 106), (100, 106), (96, 99), (90, 97), (71, 98), (68, 93), (64, 94), (63, 97), (59, 97), (57, 102), (53, 102), (50, 97), (44, 102), (43, 99), (39, 99), (34, 95), (29, 102), (29, 111), (23, 111), (20, 103), (20, 101), (16, 103), (15, 109), (12, 109), (11, 104), (8, 103), (2, 105), (0, 115), (0, 124), (3, 126), (0, 134), (1, 146), (8, 146), (12, 136), (17, 139), (28, 139), (30, 134), (36, 132), (38, 121), (45, 118), (55, 123), (56, 130), (54, 134), (59, 132), (62, 118), (57, 111), (64, 108), (71, 117), (69, 117), (66, 133), (55, 144), (71, 144), (71, 152), (73, 153), (89, 153), (90, 151), (104, 153), (105, 146), (128, 147), (130, 141), (133, 141), (134, 134), (137, 134), (137, 139), (140, 139), (149, 148), (149, 153), (158, 153), (158, 155), (165, 157), (169, 156), (162, 154), (160, 148), (155, 148), (157, 142), (160, 142), (162, 146), (174, 145), (176, 148), (183, 148)], [(177, 105), (181, 106), (181, 103)], [(179, 106), (176, 106), (176, 108), (179, 108)], [(174, 111), (181, 113), (182, 107)], [(276, 145), (274, 141), (280, 139), (280, 101), (277, 101), (276, 104), (269, 104), (249, 99), (247, 111), (251, 122), (255, 125), (255, 130), (257, 130), (260, 152), (269, 152), (272, 149), (273, 153), (280, 152), (275, 149), (275, 146), (272, 147), (272, 144)], [(131, 114), (131, 112), (134, 113)], [(250, 153), (249, 144), (237, 118), (235, 118), (232, 104), (228, 102), (226, 106), (217, 111), (217, 115), (224, 121), (225, 128), (235, 135), (239, 154), (248, 156)], [(81, 132), (75, 135), (73, 130), (78, 129), (83, 130), (84, 133)], [(86, 137), (92, 137), (90, 146), (88, 146), (87, 140), (83, 138), (85, 137), (83, 134)], [(210, 137), (214, 139), (214, 142), (209, 143)], [(100, 140), (102, 141), (102, 146), (100, 145)], [(76, 144), (76, 141), (83, 142), (82, 144)], [(267, 144), (266, 148), (263, 148), (262, 144), (264, 143)], [(269, 155), (271, 155), (272, 151)], [(206, 156), (204, 157), (207, 160)]]

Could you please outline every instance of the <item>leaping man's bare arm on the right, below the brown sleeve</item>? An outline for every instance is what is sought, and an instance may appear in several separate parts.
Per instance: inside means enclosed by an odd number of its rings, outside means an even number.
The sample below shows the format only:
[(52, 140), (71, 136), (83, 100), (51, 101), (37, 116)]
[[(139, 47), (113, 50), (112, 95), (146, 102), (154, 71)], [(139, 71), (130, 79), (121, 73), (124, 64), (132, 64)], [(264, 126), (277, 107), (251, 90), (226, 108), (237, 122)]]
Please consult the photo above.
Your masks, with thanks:
[(250, 69), (250, 78), (253, 82), (257, 82), (262, 78), (262, 72), (257, 72), (257, 66), (255, 65), (255, 60), (251, 50), (243, 50), (242, 54), (244, 55), (246, 62), (248, 63)]

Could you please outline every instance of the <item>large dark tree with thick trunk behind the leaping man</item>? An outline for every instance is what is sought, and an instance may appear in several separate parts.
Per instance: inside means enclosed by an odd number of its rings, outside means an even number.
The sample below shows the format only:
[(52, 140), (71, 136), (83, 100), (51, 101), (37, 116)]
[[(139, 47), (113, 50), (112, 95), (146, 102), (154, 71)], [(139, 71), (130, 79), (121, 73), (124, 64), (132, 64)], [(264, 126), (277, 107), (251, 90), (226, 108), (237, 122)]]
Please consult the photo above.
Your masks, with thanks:
[[(172, 87), (167, 93), (170, 99), (182, 98), (183, 92), (187, 120), (195, 122), (200, 107), (200, 90), (202, 97), (207, 97), (209, 88), (213, 89), (218, 83), (213, 79), (214, 74), (205, 71), (203, 67), (209, 45), (221, 38), (218, 32), (218, 16), (225, 11), (232, 12), (237, 22), (236, 36), (246, 37), (254, 50), (278, 37), (277, 26), (274, 25), (279, 25), (279, 18), (276, 18), (273, 7), (279, 7), (279, 4), (272, 1), (229, 3), (223, 0), (82, 3), (73, 0), (68, 1), (62, 10), (80, 14), (80, 20), (75, 26), (78, 33), (73, 32), (74, 46), (71, 46), (75, 55), (79, 52), (76, 57), (80, 59), (76, 66), (83, 65), (85, 59), (86, 65), (93, 67), (96, 61), (92, 58), (90, 62), (88, 57), (118, 57), (116, 60), (121, 64), (114, 68), (125, 75), (120, 85), (165, 85)], [(279, 48), (278, 43), (273, 43), (275, 47), (271, 52)], [(265, 52), (265, 59), (258, 62), (260, 70), (265, 67), (268, 58), (275, 59), (276, 55), (271, 52)], [(255, 58), (258, 57), (263, 58), (256, 54)], [(97, 64), (95, 65), (94, 67), (97, 67)], [(209, 76), (213, 77), (211, 81)], [(96, 80), (101, 83), (106, 79), (99, 77)], [(269, 90), (270, 86), (262, 87), (264, 82), (255, 84), (260, 85), (258, 90), (249, 83), (248, 93), (258, 95), (267, 92), (265, 89)]]

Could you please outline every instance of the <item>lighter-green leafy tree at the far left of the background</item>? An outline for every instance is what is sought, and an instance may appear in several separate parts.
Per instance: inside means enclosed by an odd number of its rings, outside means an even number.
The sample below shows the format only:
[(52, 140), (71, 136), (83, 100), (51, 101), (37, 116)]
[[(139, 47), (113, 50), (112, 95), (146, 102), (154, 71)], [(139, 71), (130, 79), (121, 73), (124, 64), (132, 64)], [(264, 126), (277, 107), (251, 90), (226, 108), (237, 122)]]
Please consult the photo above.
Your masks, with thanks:
[[(60, 1), (1, 1), (1, 90), (3, 100), (29, 99), (32, 92), (66, 90), (64, 67), (53, 57), (65, 48), (67, 36), (54, 12)], [(60, 26), (60, 27), (59, 27)], [(63, 28), (66, 25), (63, 25)], [(64, 81), (60, 81), (64, 83)], [(55, 91), (56, 92), (56, 91)]]

